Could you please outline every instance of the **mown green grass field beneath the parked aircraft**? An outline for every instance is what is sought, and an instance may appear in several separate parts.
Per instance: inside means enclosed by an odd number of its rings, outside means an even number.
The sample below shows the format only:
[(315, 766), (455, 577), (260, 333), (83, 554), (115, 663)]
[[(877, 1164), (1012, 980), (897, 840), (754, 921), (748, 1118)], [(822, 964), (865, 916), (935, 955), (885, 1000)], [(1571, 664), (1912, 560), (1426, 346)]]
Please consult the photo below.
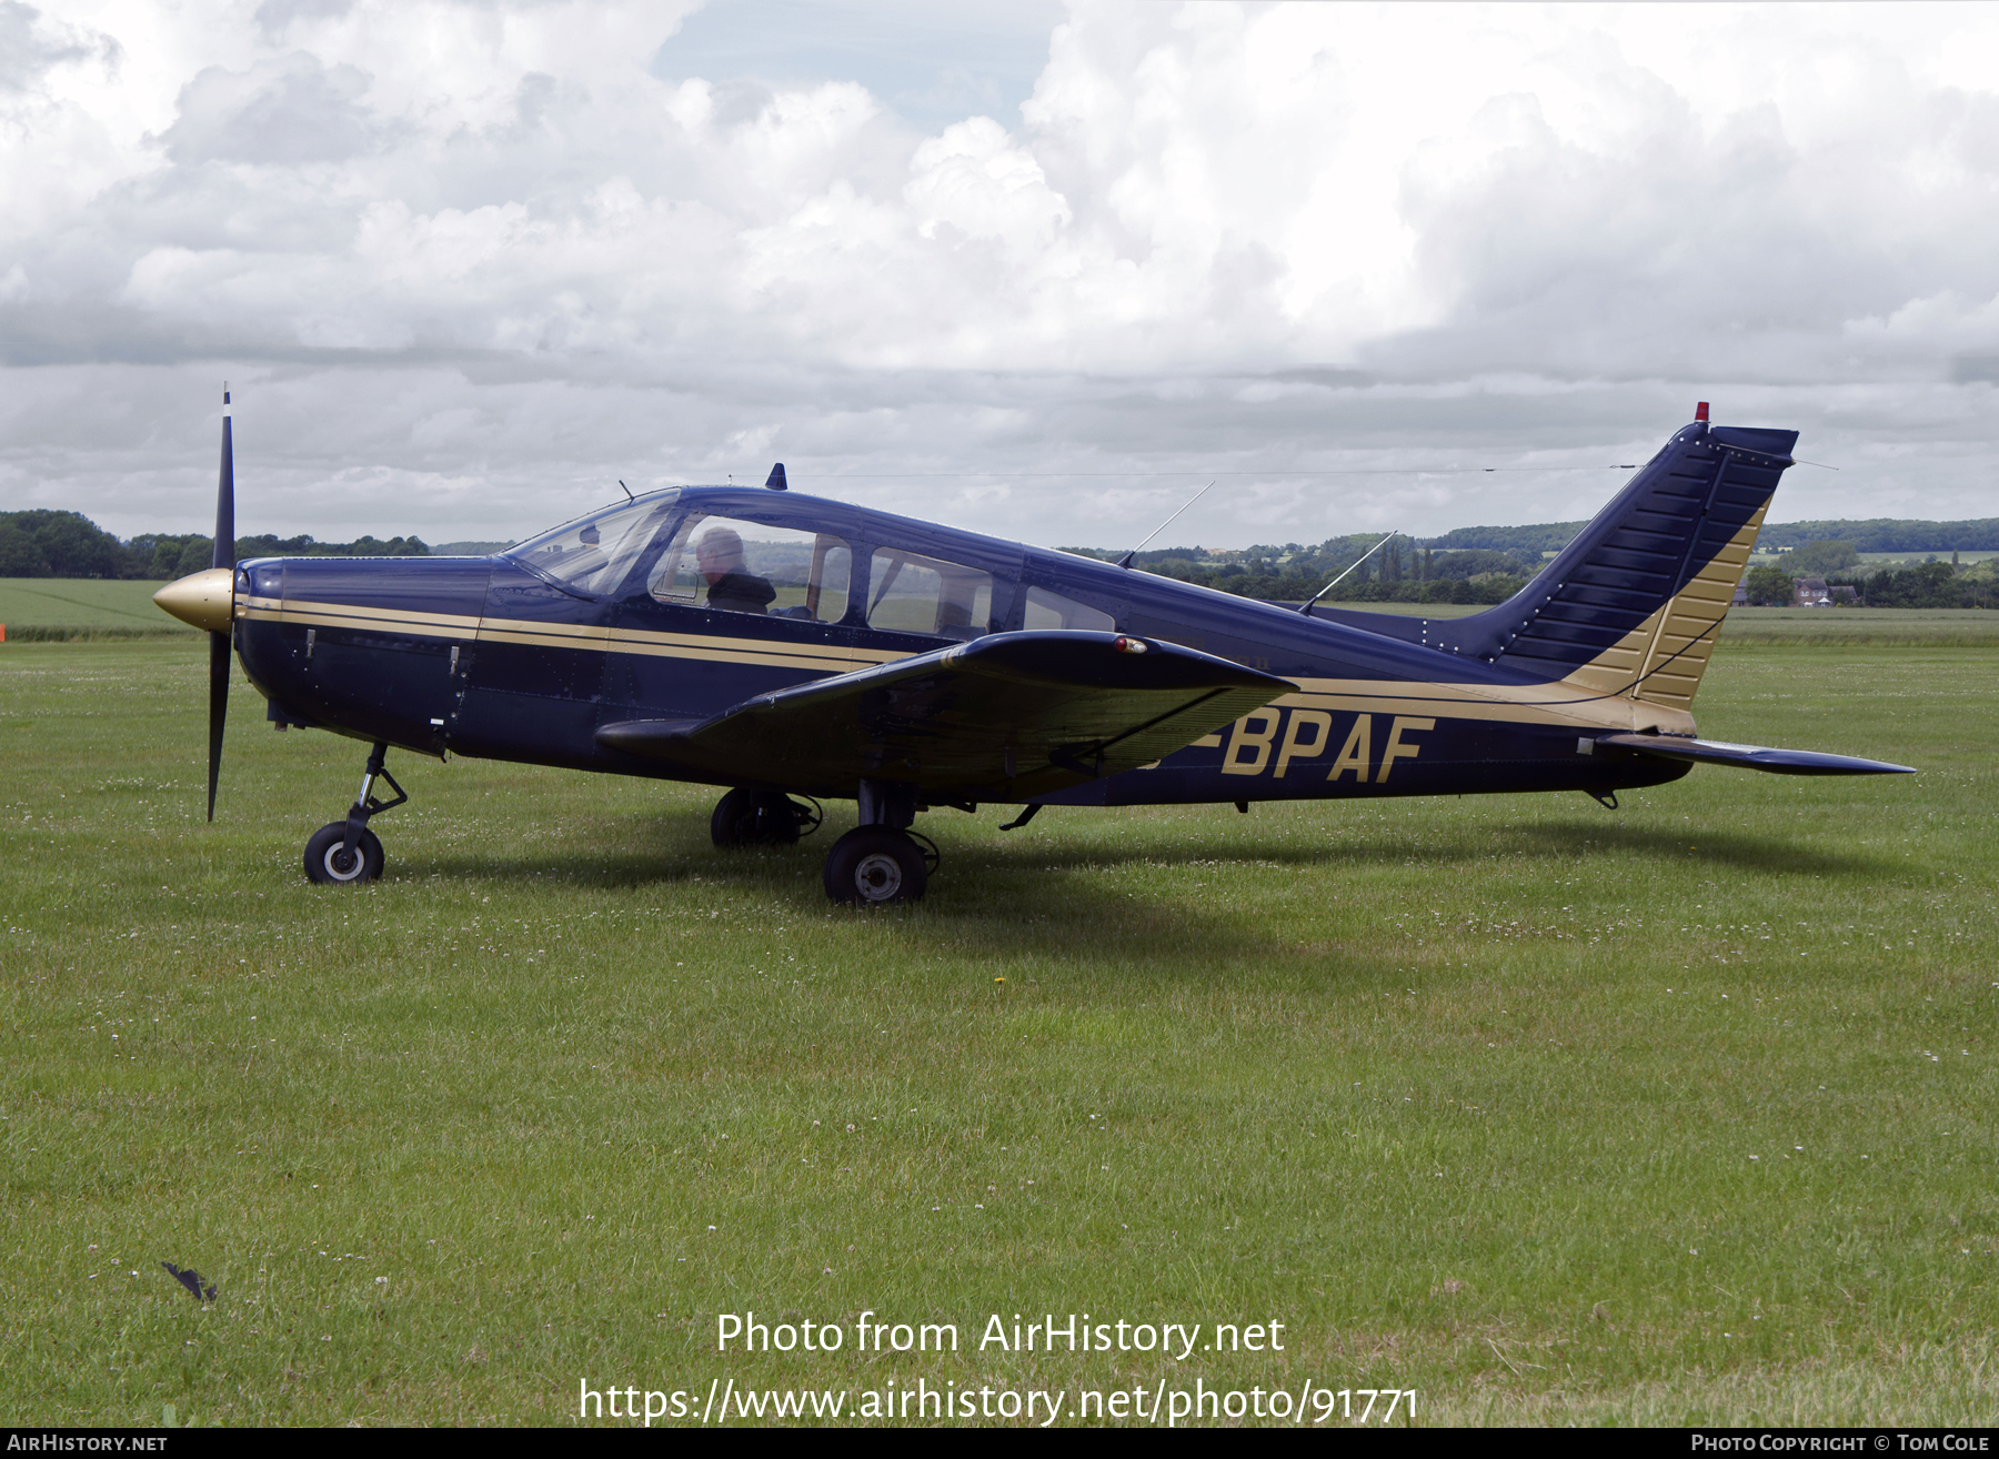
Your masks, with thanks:
[[(20, 1423), (562, 1423), (580, 1379), (730, 1377), (1309, 1377), (1419, 1423), (1999, 1399), (1989, 652), (1717, 654), (1707, 733), (1913, 777), (940, 811), (886, 915), (820, 891), (852, 807), (718, 855), (710, 791), (408, 755), (388, 879), (310, 889), (364, 749), (238, 686), (204, 825), (202, 674), (0, 656)], [(968, 1351), (718, 1355), (746, 1309)], [(976, 1351), (1045, 1311), (1285, 1351)]]

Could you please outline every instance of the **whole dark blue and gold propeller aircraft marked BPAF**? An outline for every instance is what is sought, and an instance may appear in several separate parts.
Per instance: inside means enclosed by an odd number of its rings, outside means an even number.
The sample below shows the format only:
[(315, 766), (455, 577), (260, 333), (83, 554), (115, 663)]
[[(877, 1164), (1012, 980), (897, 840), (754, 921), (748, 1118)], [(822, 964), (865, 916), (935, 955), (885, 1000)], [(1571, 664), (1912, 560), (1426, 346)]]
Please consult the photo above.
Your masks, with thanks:
[[(224, 392), (224, 408), (228, 392)], [(382, 875), (400, 747), (726, 787), (718, 847), (860, 825), (836, 901), (924, 895), (920, 811), (1585, 791), (1691, 765), (1903, 771), (1703, 739), (1693, 696), (1797, 432), (1705, 402), (1519, 594), (1469, 618), (1261, 604), (788, 488), (636, 496), (490, 558), (234, 562), (156, 602), (212, 634), (208, 815), (230, 652), (278, 730), (372, 745), (306, 875)], [(376, 791), (394, 791), (382, 799)], [(804, 797), (804, 799), (802, 799)]]

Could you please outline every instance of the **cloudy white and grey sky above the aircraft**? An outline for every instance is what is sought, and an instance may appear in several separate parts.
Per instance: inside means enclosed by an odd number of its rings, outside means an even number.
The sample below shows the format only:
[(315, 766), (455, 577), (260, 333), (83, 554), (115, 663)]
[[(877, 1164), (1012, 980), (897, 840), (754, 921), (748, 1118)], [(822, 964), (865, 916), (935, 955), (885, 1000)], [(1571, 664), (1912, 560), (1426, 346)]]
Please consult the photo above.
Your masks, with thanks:
[[(0, 506), (1041, 544), (1999, 514), (1999, 6), (0, 0)], [(1497, 470), (1483, 470), (1497, 468)]]

